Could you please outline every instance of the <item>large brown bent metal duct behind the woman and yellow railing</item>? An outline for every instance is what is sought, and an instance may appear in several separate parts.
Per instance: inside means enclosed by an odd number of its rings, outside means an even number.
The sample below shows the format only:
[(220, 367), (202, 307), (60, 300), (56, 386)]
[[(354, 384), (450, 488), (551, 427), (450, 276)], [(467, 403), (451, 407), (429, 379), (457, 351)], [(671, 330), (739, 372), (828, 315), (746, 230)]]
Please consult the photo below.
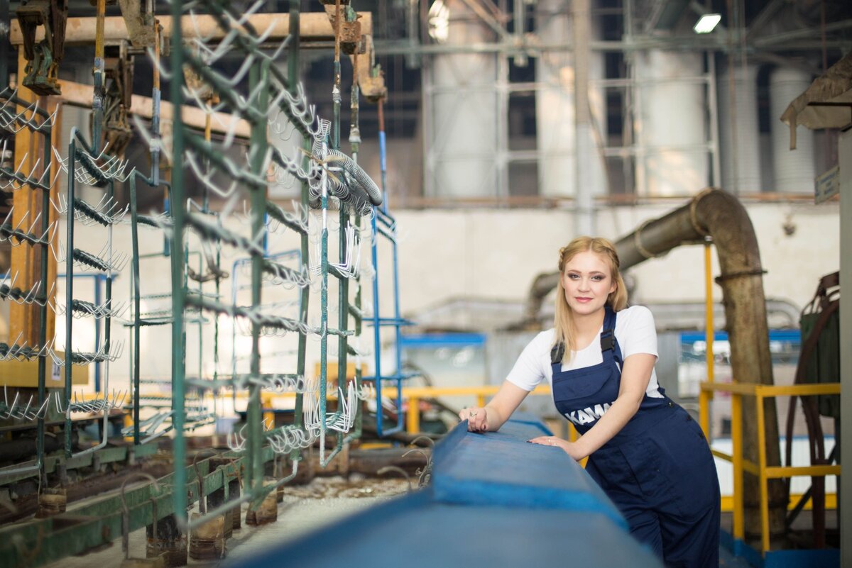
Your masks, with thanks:
[[(733, 376), (740, 383), (773, 384), (760, 251), (751, 219), (736, 197), (722, 190), (706, 189), (683, 207), (642, 224), (615, 247), (621, 270), (626, 270), (682, 244), (704, 241), (705, 236), (713, 239), (722, 270), (717, 283), (722, 287)], [(537, 321), (542, 300), (558, 280), (558, 273), (536, 277), (527, 299), (527, 321)], [(757, 463), (757, 417), (748, 412), (754, 407), (753, 402), (745, 400), (744, 405), (743, 452), (746, 459)], [(764, 412), (767, 463), (779, 465), (778, 419), (773, 399), (766, 400)], [(746, 536), (756, 536), (761, 531), (757, 478), (746, 474), (743, 487)], [(770, 482), (769, 530), (773, 536), (785, 530), (787, 500), (781, 482)]]

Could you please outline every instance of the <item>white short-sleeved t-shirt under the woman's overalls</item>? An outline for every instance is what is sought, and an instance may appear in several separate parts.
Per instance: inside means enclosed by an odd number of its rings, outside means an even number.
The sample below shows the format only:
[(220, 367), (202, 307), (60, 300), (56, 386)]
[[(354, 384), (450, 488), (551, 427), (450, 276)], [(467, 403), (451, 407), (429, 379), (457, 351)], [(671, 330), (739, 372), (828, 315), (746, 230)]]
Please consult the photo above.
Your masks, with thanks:
[[(636, 353), (657, 355), (657, 330), (653, 325), (651, 310), (645, 306), (630, 306), (616, 313), (615, 339), (619, 342), (621, 356), (626, 360)], [(574, 351), (569, 361), (562, 363), (562, 371), (573, 371), (586, 366), (597, 365), (603, 361), (601, 352), (601, 332), (588, 347)], [(506, 380), (521, 389), (533, 390), (543, 379), (553, 386), (553, 368), (550, 366), (550, 349), (553, 349), (554, 330), (550, 328), (539, 333), (527, 347), (521, 351), (521, 356), (515, 361), (515, 366)], [(657, 372), (652, 369), (651, 380), (645, 394), (654, 398), (662, 398), (657, 382)]]

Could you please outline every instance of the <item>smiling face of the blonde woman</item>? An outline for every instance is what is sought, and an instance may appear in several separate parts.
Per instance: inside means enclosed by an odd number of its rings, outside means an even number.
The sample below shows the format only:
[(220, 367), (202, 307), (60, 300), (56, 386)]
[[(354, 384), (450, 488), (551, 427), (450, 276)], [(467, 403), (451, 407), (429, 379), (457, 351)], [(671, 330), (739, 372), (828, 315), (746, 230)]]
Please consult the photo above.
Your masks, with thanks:
[(576, 315), (590, 315), (602, 310), (616, 284), (607, 261), (597, 253), (578, 253), (562, 270), (565, 299)]

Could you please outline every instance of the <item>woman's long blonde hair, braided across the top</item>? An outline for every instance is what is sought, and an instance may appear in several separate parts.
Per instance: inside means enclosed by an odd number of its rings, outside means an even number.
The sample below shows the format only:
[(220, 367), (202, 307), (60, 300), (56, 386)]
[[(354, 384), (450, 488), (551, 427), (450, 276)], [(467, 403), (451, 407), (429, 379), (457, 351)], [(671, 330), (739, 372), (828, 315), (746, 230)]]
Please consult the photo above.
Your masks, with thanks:
[(607, 304), (613, 311), (624, 310), (627, 306), (627, 288), (619, 272), (619, 254), (615, 252), (613, 243), (599, 236), (578, 236), (566, 247), (559, 249), (559, 284), (556, 287), (556, 315), (554, 316), (554, 345), (565, 344), (566, 358), (570, 359), (572, 351), (576, 351), (576, 333), (574, 330), (573, 312), (565, 299), (565, 287), (562, 286), (562, 275), (565, 264), (579, 253), (596, 253), (604, 262), (609, 264), (610, 276), (615, 282), (615, 290), (607, 297)]

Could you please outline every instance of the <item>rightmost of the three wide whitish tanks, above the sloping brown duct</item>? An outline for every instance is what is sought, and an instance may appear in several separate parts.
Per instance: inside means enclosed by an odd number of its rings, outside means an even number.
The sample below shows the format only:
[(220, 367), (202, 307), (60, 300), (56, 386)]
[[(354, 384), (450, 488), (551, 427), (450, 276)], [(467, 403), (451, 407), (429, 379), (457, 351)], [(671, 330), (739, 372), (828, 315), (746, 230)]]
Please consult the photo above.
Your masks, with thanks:
[(710, 180), (701, 55), (636, 54), (636, 193), (687, 196)]

